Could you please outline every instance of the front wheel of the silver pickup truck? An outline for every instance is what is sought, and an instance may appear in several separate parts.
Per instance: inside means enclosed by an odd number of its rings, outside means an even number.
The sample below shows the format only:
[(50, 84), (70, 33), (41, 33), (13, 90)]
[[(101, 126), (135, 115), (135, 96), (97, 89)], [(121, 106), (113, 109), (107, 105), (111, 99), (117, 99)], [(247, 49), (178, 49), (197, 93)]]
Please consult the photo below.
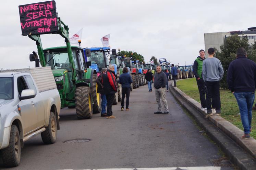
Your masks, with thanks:
[(5, 167), (16, 167), (21, 162), (21, 141), (19, 129), (16, 125), (12, 125), (10, 133), (10, 141), (7, 148), (0, 151), (0, 155)]

